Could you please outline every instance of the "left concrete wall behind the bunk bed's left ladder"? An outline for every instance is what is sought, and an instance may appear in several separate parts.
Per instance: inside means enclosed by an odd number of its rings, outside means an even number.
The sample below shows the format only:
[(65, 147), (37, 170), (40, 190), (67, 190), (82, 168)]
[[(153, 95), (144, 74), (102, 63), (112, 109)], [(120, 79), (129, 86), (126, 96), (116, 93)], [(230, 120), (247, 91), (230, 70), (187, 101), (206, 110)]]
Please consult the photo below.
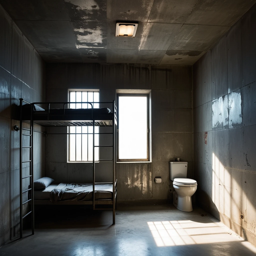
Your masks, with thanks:
[[(45, 101), (44, 62), (0, 5), (0, 246), (18, 232), (19, 223), (19, 98)], [(40, 127), (35, 127), (40, 130)], [(27, 136), (28, 137), (28, 136)], [(29, 141), (24, 141), (24, 145)], [(35, 179), (45, 173), (45, 138), (35, 134)], [(24, 152), (24, 159), (29, 152)], [(29, 172), (24, 164), (23, 175)], [(28, 187), (24, 182), (24, 189)], [(26, 201), (27, 193), (23, 200)], [(24, 211), (27, 210), (24, 206)]]

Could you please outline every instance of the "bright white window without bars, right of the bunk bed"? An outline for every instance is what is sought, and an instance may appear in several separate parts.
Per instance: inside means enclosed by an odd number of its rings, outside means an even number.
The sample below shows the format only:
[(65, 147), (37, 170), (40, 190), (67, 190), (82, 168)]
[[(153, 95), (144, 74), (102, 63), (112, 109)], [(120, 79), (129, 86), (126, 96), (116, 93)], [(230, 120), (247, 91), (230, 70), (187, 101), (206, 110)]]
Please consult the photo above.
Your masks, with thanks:
[(118, 94), (118, 160), (149, 160), (148, 94)]

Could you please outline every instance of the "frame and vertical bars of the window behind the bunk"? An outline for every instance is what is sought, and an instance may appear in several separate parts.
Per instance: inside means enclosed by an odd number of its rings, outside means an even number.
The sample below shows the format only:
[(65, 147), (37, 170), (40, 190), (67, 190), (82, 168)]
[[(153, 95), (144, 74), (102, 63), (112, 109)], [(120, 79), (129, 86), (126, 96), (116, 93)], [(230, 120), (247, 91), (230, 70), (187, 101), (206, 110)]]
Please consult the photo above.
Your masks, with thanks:
[[(89, 102), (88, 101), (88, 92), (98, 92), (99, 93), (99, 101), (100, 101), (100, 90), (99, 89), (68, 89), (68, 102), (70, 102), (70, 93), (71, 92), (87, 92), (87, 102)], [(82, 100), (82, 99), (81, 99)], [(93, 100), (94, 100), (94, 94), (93, 94)], [(78, 104), (79, 104), (79, 102), (77, 102)], [(92, 103), (92, 105), (94, 105), (93, 103), (94, 102), (91, 102)], [(69, 108), (70, 108), (70, 104), (68, 104), (68, 106), (69, 106)], [(88, 106), (89, 106), (89, 104), (87, 104), (87, 108), (88, 108)], [(100, 107), (100, 106), (99, 106)], [(82, 104), (81, 104), (81, 108), (82, 108)], [(83, 133), (82, 132), (82, 126), (81, 126), (81, 133), (76, 133), (76, 135), (77, 134), (81, 134), (81, 160), (74, 160), (74, 161), (71, 161), (70, 160), (70, 127), (77, 127), (77, 126), (68, 126), (67, 128), (68, 128), (68, 148), (67, 148), (67, 151), (68, 151), (68, 154), (67, 154), (67, 162), (68, 163), (92, 163), (93, 162), (93, 160), (92, 161), (89, 161), (88, 160), (88, 158), (89, 158), (89, 144), (88, 144), (88, 138), (89, 138), (89, 134), (93, 134), (93, 133), (89, 133), (89, 126), (91, 126), (91, 125), (83, 125), (83, 126), (86, 126), (87, 127), (87, 133)], [(99, 131), (100, 132), (100, 131)], [(99, 132), (97, 132), (97, 133), (94, 133), (94, 136), (96, 135), (96, 134), (98, 134), (98, 136), (99, 136)], [(82, 134), (87, 134), (87, 161), (83, 161), (82, 160)], [(99, 139), (100, 139), (100, 136), (99, 136)], [(75, 145), (76, 145), (76, 143), (75, 143)], [(76, 146), (75, 146), (76, 147)], [(92, 149), (93, 150), (93, 149)], [(75, 156), (75, 158), (77, 158), (76, 156)], [(99, 157), (98, 158), (100, 158), (100, 152), (99, 152)], [(97, 160), (97, 161), (95, 161), (95, 162), (99, 162), (99, 160)]]

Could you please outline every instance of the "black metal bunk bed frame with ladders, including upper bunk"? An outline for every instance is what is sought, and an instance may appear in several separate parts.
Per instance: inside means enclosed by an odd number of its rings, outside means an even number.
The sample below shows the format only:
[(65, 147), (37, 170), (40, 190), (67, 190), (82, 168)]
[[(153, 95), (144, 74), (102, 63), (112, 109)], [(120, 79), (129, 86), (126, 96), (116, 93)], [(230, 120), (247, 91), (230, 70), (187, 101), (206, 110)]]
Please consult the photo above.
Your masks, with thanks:
[[(20, 131), (20, 238), (23, 237), (23, 219), (28, 215), (31, 215), (31, 230), (32, 234), (34, 234), (35, 230), (35, 223), (34, 223), (34, 204), (65, 204), (65, 205), (74, 205), (74, 204), (83, 204), (83, 205), (92, 205), (93, 210), (112, 210), (113, 211), (113, 225), (115, 224), (115, 209), (116, 209), (116, 196), (117, 196), (117, 180), (116, 180), (116, 132), (117, 132), (117, 115), (116, 115), (116, 105), (115, 101), (113, 102), (93, 102), (99, 104), (112, 104), (113, 113), (109, 113), (109, 115), (97, 115), (94, 114), (93, 111), (97, 109), (93, 109), (93, 103), (91, 102), (79, 102), (79, 103), (87, 103), (91, 105), (91, 113), (88, 114), (75, 114), (68, 113), (68, 109), (66, 106), (68, 104), (77, 103), (77, 102), (34, 102), (29, 103), (24, 101), (23, 99), (20, 100), (20, 127), (15, 128), (16, 131)], [(24, 105), (29, 104), (29, 114), (26, 111), (24, 114)], [(35, 104), (47, 104), (48, 109), (45, 110), (43, 114), (38, 115), (37, 112), (41, 113), (42, 111), (35, 111)], [(59, 109), (61, 113), (51, 113), (50, 104), (63, 104), (63, 109)], [(89, 110), (89, 109), (88, 109)], [(66, 112), (66, 113), (65, 113)], [(111, 117), (111, 118), (110, 118)], [(98, 118), (98, 119), (97, 119)], [(100, 119), (99, 119), (100, 118)], [(30, 129), (23, 128), (23, 122), (30, 123)], [(92, 162), (92, 171), (93, 171), (93, 193), (92, 193), (92, 200), (88, 201), (41, 201), (41, 200), (34, 200), (34, 168), (33, 168), (33, 139), (34, 139), (34, 132), (38, 132), (34, 130), (34, 124), (40, 126), (93, 126), (93, 162)], [(108, 146), (95, 146), (94, 145), (94, 134), (95, 134), (95, 124), (97, 126), (112, 126), (112, 133), (99, 133), (99, 134), (112, 134), (113, 136), (113, 145)], [(29, 131), (28, 133), (23, 133), (23, 131)], [(40, 131), (39, 131), (40, 132)], [(46, 132), (41, 132), (45, 133)], [(71, 133), (49, 133), (49, 134), (71, 134)], [(29, 146), (23, 146), (23, 136), (29, 136), (30, 142)], [(96, 183), (95, 182), (95, 147), (112, 147), (113, 148), (113, 158), (112, 159), (100, 159), (100, 160), (112, 160), (113, 161), (113, 181), (111, 183)], [(23, 148), (29, 148), (29, 160), (23, 161), (22, 153)], [(29, 175), (23, 177), (22, 169), (23, 163), (29, 163)], [(23, 179), (29, 178), (30, 185), (29, 188), (23, 191)], [(99, 192), (99, 190), (95, 190), (95, 185), (97, 184), (112, 184), (112, 199), (109, 200), (97, 200), (95, 199), (95, 192)], [(22, 195), (28, 192), (29, 197), (28, 200), (23, 202)], [(31, 208), (29, 212), (23, 216), (23, 205), (29, 203)], [(111, 208), (98, 208), (96, 205), (113, 205)]]

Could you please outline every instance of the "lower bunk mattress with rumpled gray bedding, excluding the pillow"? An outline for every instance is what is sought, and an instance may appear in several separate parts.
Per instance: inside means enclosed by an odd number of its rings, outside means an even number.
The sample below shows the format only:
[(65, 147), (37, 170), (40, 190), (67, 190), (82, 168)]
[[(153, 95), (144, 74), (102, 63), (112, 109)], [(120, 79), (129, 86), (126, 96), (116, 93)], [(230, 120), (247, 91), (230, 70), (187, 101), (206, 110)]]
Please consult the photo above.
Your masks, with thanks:
[[(91, 183), (51, 184), (45, 189), (34, 190), (34, 200), (91, 201), (93, 198)], [(96, 184), (95, 200), (113, 199), (112, 184)]]

